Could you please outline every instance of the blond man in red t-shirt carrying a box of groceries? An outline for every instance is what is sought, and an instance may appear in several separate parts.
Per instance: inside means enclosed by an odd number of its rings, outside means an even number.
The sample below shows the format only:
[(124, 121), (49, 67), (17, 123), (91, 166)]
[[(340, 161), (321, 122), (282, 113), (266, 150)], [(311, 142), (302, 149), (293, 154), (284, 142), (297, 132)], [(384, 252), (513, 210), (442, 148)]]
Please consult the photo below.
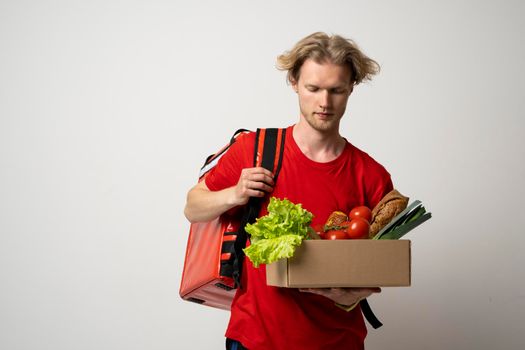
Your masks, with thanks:
[[(350, 40), (314, 33), (278, 57), (299, 99), (299, 121), (287, 128), (279, 179), (253, 168), (255, 135), (238, 141), (187, 198), (186, 217), (206, 221), (250, 197), (288, 198), (322, 224), (331, 212), (374, 207), (392, 189), (389, 173), (339, 133), (354, 86), (379, 71)], [(244, 260), (242, 286), (226, 331), (229, 349), (363, 349), (366, 326), (359, 300), (379, 288), (305, 289), (266, 285), (265, 266)], [(343, 306), (344, 305), (344, 306)]]

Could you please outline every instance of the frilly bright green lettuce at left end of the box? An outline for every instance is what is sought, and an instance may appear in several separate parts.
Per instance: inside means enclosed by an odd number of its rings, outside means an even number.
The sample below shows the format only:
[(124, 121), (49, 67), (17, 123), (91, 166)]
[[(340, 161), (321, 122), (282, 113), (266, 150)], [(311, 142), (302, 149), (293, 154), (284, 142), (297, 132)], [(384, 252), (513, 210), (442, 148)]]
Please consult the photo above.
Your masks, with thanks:
[(290, 258), (295, 248), (309, 237), (313, 215), (288, 199), (270, 198), (268, 215), (246, 225), (251, 235), (250, 246), (244, 249), (253, 266), (270, 264), (281, 258)]

